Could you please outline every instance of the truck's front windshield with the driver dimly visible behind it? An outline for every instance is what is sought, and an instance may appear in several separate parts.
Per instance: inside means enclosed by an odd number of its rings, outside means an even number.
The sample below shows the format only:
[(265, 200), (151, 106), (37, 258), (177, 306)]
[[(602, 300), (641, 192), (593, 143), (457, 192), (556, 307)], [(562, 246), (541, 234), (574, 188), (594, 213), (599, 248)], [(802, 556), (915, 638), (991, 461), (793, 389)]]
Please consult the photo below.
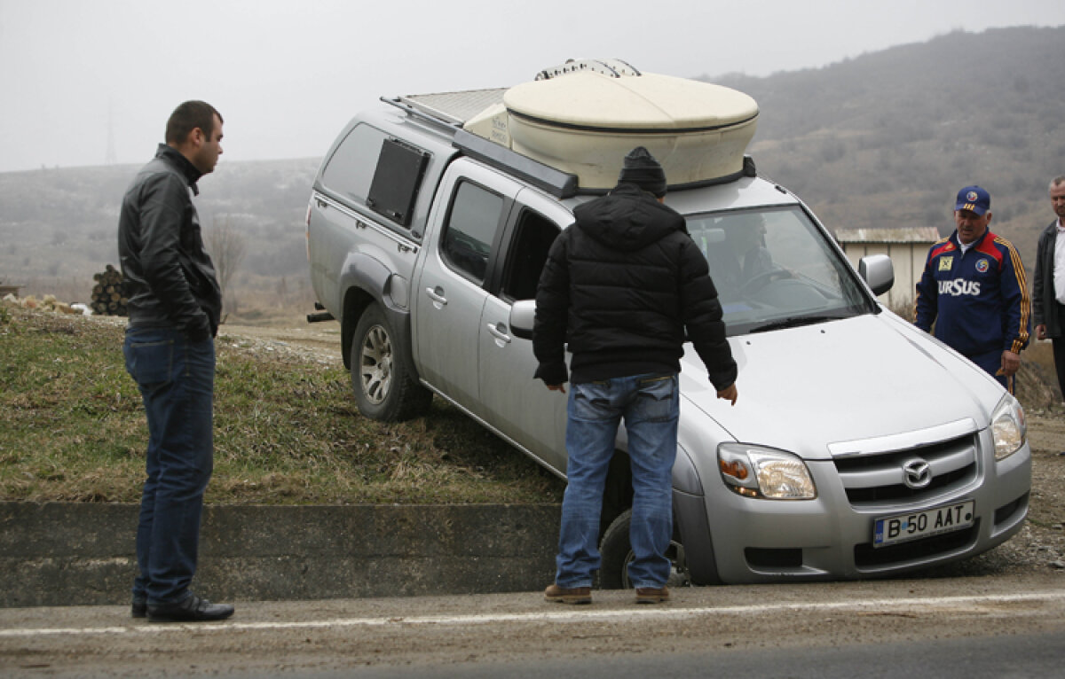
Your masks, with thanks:
[(688, 215), (728, 335), (869, 313), (856, 278), (798, 205)]

